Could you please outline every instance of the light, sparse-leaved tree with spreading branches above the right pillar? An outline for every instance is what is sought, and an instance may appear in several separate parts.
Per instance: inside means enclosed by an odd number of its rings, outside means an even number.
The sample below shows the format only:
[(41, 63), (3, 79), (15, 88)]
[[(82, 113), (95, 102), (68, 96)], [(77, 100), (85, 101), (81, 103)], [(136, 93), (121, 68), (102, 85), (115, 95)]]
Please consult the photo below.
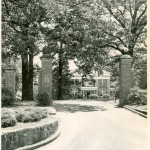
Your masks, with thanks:
[[(98, 12), (106, 45), (122, 54), (134, 55), (135, 48), (145, 43), (147, 24), (146, 0), (98, 0)], [(108, 19), (109, 18), (109, 19)]]

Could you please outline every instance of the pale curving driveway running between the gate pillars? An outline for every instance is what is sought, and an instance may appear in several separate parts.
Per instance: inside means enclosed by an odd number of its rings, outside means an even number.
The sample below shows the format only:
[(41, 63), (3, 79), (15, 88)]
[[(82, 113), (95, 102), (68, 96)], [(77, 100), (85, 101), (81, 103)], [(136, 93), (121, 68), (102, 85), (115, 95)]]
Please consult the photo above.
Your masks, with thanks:
[(108, 102), (55, 102), (60, 136), (37, 150), (146, 150), (146, 119)]

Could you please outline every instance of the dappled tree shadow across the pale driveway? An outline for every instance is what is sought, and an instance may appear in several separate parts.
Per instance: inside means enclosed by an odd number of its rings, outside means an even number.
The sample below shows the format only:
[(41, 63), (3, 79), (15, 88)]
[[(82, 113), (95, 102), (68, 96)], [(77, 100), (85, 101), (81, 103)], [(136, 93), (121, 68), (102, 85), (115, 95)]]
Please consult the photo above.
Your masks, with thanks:
[(54, 104), (54, 108), (58, 112), (90, 112), (90, 111), (106, 111), (107, 109), (103, 106), (88, 106), (80, 104)]

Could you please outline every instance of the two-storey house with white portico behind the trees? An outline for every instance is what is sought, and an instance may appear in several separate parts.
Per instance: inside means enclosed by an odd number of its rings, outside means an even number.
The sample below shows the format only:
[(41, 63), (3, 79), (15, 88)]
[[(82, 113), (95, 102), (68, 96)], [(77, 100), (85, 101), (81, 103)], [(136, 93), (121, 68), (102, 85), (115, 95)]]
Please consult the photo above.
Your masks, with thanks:
[(110, 88), (110, 73), (103, 71), (103, 74), (98, 75), (98, 72), (93, 72), (88, 77), (83, 77), (82, 74), (73, 73), (71, 92), (82, 94), (83, 97), (88, 98), (91, 94), (96, 94), (98, 97), (105, 94), (114, 96), (115, 91)]

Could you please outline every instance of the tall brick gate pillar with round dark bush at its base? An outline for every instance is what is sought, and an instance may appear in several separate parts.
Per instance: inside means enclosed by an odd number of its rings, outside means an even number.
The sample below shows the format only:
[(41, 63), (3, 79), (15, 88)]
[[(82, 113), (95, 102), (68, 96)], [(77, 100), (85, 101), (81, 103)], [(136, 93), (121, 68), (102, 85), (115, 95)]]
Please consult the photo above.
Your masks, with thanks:
[(50, 100), (52, 100), (52, 58), (49, 54), (43, 54), (41, 61), (41, 88), (39, 90), (41, 92), (47, 92)]

